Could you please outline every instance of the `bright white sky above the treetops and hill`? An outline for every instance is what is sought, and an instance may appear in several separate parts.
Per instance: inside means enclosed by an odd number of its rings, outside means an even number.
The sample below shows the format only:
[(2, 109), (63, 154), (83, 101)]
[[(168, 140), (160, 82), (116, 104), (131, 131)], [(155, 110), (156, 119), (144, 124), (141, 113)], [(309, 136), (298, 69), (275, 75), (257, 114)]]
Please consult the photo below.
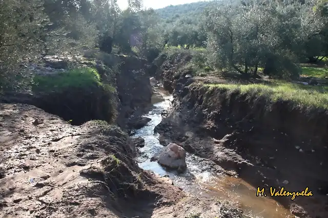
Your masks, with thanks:
[[(200, 2), (201, 0), (144, 0), (144, 6), (146, 8), (164, 8), (169, 5), (181, 5), (193, 2)], [(124, 10), (128, 6), (128, 0), (117, 0), (118, 6)]]

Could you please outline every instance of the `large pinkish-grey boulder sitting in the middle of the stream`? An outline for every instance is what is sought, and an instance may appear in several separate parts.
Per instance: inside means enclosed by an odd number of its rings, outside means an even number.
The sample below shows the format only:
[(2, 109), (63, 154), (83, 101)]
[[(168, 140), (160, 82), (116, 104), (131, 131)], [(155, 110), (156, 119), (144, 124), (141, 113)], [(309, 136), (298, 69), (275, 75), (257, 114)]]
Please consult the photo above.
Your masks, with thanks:
[(174, 143), (166, 146), (156, 159), (160, 165), (177, 169), (179, 172), (186, 171), (187, 169), (186, 150)]

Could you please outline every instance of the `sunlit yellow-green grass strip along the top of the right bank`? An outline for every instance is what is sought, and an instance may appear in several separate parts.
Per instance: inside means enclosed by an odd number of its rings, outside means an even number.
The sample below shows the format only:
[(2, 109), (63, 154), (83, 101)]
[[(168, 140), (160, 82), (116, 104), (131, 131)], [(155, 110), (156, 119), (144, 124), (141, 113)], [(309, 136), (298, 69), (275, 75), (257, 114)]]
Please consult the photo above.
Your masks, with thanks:
[(239, 91), (241, 94), (250, 94), (268, 97), (273, 102), (289, 100), (295, 106), (310, 106), (328, 109), (328, 87), (294, 84), (279, 80), (271, 84), (207, 84), (211, 88), (227, 91)]

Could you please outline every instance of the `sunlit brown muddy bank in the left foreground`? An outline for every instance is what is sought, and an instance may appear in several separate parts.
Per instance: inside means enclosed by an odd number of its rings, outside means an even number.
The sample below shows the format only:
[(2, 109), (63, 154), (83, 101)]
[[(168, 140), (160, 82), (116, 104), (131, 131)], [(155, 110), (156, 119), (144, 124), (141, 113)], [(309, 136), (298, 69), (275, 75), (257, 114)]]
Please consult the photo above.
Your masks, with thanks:
[(104, 121), (2, 103), (0, 133), (1, 217), (151, 217), (185, 195), (141, 170), (130, 137)]

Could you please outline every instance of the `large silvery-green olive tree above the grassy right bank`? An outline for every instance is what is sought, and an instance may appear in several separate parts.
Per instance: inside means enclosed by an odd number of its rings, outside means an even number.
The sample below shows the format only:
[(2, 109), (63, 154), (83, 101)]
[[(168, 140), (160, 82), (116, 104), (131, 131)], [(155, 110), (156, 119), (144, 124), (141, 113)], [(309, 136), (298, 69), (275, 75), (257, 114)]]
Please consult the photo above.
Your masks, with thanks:
[(259, 67), (269, 75), (297, 74), (305, 39), (322, 27), (316, 3), (255, 0), (207, 11), (209, 58), (242, 75), (257, 76)]

